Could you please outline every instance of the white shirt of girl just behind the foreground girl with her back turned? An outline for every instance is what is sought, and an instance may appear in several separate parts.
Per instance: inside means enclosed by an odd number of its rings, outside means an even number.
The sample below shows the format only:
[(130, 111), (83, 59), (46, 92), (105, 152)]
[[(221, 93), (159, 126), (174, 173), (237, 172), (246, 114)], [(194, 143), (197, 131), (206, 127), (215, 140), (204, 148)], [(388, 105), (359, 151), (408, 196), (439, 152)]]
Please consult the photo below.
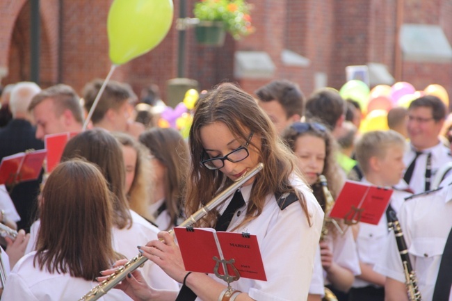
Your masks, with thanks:
[[(145, 245), (148, 241), (153, 241), (157, 239), (157, 234), (159, 229), (152, 225), (150, 222), (142, 218), (138, 213), (130, 211), (132, 216), (132, 227), (127, 229), (118, 229), (113, 227), (113, 250), (119, 252), (120, 254), (127, 257), (127, 259), (132, 259), (138, 255), (137, 245)], [(38, 237), (40, 222), (37, 220), (33, 223), (30, 230), (30, 240), (26, 247), (26, 253), (35, 250), (35, 241)], [(152, 261), (146, 261), (143, 268), (140, 268), (143, 273), (143, 277), (147, 280), (153, 288), (167, 289), (172, 291), (179, 290), (179, 284), (166, 275), (166, 272), (152, 263)], [(99, 271), (100, 272), (100, 271)]]

